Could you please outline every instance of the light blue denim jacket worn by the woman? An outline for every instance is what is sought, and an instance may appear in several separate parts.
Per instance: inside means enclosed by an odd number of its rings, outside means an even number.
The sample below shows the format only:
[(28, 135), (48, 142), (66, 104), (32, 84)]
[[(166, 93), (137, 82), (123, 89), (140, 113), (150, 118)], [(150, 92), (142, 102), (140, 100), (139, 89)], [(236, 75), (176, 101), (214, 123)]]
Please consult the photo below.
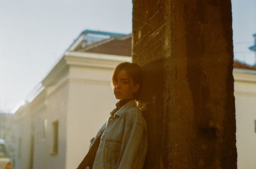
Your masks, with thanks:
[[(148, 149), (147, 123), (135, 101), (129, 101), (102, 126), (93, 169), (141, 169)], [(92, 145), (91, 144), (91, 145)]]

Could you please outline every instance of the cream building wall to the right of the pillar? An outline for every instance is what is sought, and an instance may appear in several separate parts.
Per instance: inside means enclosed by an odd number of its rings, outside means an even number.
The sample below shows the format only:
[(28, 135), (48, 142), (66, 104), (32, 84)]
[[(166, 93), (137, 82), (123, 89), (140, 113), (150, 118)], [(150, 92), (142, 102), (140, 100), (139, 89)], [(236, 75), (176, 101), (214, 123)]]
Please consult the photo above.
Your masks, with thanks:
[(237, 168), (256, 168), (256, 71), (234, 73)]

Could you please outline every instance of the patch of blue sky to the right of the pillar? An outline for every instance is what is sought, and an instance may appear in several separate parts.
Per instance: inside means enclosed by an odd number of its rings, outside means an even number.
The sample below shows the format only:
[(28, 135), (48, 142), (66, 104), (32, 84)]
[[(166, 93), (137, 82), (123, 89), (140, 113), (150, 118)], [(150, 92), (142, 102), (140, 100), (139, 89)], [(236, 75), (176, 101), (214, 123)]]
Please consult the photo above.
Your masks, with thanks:
[(248, 64), (255, 63), (256, 0), (232, 0), (233, 40), (235, 59)]

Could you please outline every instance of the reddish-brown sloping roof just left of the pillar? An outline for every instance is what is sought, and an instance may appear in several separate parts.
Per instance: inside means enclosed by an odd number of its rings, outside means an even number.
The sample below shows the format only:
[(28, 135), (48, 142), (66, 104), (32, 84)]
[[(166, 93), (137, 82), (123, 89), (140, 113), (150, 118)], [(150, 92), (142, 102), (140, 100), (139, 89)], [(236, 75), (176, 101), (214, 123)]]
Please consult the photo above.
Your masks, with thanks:
[(131, 56), (132, 35), (128, 34), (122, 37), (113, 37), (107, 40), (98, 41), (84, 48), (79, 48), (77, 51)]

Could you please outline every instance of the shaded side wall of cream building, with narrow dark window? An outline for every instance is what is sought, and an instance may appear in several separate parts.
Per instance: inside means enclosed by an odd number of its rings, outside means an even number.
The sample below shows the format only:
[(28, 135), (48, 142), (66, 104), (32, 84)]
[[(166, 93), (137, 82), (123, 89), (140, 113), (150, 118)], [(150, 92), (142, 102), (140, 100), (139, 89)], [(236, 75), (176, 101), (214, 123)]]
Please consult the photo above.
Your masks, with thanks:
[[(67, 147), (67, 77), (57, 75), (57, 82), (51, 83), (40, 92), (31, 103), (31, 133), (29, 150), (33, 158), (28, 159), (33, 168), (63, 169), (66, 161)], [(58, 133), (54, 135), (54, 122), (58, 121)], [(54, 152), (54, 136), (57, 152)], [(34, 138), (34, 139), (33, 139)]]

